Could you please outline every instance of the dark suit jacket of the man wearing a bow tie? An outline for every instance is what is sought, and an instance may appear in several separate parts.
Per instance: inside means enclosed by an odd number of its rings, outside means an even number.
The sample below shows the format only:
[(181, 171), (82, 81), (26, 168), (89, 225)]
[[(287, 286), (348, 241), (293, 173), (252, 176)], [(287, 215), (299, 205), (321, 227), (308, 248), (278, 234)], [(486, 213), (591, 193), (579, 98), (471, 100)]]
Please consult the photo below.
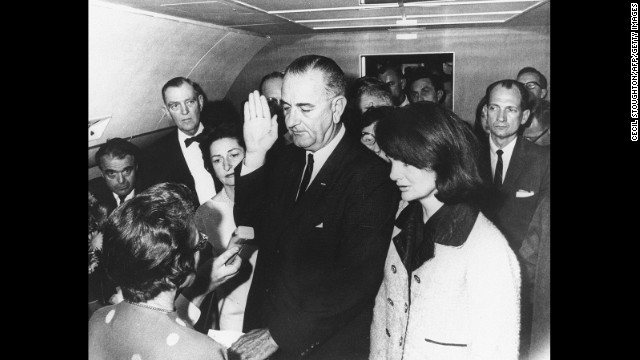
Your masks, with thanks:
[(178, 143), (178, 128), (171, 130), (145, 150), (143, 179), (144, 188), (162, 182), (176, 182), (196, 191), (193, 176)]

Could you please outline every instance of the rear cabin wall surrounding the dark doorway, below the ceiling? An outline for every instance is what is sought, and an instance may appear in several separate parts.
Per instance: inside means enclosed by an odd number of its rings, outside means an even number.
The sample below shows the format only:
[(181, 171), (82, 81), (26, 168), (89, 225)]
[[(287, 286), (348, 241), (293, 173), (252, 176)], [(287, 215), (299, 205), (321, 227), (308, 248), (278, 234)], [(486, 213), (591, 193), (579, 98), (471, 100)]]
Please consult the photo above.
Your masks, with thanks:
[(263, 75), (282, 70), (305, 54), (334, 59), (353, 79), (360, 76), (361, 54), (454, 52), (454, 108), (471, 122), (486, 87), (496, 80), (515, 78), (524, 66), (544, 73), (551, 88), (549, 30), (548, 26), (434, 29), (419, 32), (416, 40), (396, 40), (395, 33), (384, 31), (274, 36), (245, 66), (228, 97), (242, 103)]

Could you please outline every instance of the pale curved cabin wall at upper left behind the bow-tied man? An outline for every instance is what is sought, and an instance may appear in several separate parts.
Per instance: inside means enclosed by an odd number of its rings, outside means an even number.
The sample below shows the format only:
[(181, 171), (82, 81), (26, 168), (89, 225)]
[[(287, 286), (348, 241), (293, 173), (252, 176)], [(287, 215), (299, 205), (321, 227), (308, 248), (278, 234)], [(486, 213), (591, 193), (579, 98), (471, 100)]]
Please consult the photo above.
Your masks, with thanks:
[[(220, 26), (105, 4), (89, 5), (89, 119), (111, 115), (97, 147), (173, 126), (160, 90), (176, 76), (198, 82), (211, 100), (225, 97), (244, 65), (270, 41)], [(137, 137), (146, 146), (151, 140)], [(96, 170), (90, 169), (90, 178)]]

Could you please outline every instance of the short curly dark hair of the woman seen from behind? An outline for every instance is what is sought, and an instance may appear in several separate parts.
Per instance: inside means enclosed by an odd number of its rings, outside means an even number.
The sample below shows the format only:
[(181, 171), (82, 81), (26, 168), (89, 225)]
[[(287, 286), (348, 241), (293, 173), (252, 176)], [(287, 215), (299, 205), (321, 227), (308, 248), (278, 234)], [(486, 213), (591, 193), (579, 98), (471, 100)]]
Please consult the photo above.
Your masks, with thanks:
[(161, 183), (109, 216), (101, 264), (126, 300), (144, 302), (177, 289), (195, 271), (195, 201), (187, 186)]

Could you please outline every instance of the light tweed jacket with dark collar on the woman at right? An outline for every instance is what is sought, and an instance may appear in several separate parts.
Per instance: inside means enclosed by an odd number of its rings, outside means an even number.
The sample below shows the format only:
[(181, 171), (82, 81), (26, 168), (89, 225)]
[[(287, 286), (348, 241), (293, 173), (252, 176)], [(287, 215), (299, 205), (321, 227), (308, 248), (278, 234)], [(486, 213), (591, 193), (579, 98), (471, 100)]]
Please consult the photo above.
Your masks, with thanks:
[(515, 360), (519, 306), (518, 261), (482, 213), (463, 245), (436, 243), (435, 256), (411, 274), (391, 243), (369, 358)]

